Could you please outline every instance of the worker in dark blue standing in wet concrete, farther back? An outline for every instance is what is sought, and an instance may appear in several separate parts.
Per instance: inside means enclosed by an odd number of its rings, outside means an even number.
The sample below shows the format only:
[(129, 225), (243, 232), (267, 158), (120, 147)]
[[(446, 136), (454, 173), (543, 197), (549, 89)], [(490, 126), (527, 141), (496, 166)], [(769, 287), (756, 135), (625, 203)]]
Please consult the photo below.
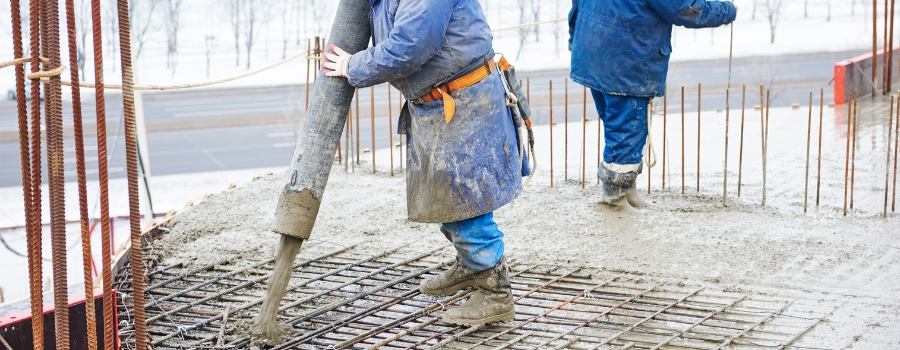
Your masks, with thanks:
[(569, 12), (572, 80), (591, 89), (603, 120), (603, 183), (598, 209), (633, 212), (647, 203), (642, 171), (648, 105), (663, 96), (672, 26), (711, 28), (734, 21), (737, 6), (718, 0), (573, 0)]

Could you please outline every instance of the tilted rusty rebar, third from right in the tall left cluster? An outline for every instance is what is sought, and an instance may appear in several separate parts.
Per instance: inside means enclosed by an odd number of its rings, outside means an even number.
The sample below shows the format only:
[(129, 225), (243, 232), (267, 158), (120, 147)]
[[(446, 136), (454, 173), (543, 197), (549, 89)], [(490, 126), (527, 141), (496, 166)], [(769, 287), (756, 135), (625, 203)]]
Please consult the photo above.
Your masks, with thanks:
[(87, 348), (97, 349), (97, 321), (94, 312), (94, 274), (91, 270), (90, 217), (88, 217), (87, 170), (84, 159), (84, 129), (81, 114), (81, 88), (78, 82), (78, 40), (75, 36), (75, 1), (66, 0), (66, 29), (69, 46), (69, 77), (72, 81), (72, 122), (75, 134), (75, 168), (78, 177), (78, 209), (81, 218), (81, 257), (84, 270), (84, 309), (87, 331)]

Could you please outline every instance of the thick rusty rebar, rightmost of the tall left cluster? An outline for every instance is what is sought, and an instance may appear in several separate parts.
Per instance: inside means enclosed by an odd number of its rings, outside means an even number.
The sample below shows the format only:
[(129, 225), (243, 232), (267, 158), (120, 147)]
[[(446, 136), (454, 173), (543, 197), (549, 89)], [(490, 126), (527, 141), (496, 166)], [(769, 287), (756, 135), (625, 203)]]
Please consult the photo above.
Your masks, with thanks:
[(141, 214), (138, 193), (137, 135), (134, 112), (134, 81), (131, 67), (131, 30), (128, 0), (117, 0), (119, 50), (122, 61), (122, 102), (125, 121), (125, 158), (128, 181), (128, 224), (131, 228), (131, 268), (134, 289), (134, 330), (138, 350), (148, 347), (147, 317), (144, 312), (144, 262)]

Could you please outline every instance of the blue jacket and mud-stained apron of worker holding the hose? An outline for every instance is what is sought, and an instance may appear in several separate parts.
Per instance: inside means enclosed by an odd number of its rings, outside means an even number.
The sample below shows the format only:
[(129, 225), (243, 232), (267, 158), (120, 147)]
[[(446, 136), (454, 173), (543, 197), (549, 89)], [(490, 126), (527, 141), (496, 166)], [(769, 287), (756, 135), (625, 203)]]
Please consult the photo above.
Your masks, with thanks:
[[(384, 82), (407, 100), (425, 95), (492, 51), (478, 0), (370, 0), (374, 46), (353, 55), (349, 81)], [(522, 191), (522, 142), (499, 70), (453, 91), (448, 123), (438, 98), (408, 103), (406, 198), (410, 221), (449, 223), (493, 212)], [(404, 118), (401, 115), (401, 118)]]

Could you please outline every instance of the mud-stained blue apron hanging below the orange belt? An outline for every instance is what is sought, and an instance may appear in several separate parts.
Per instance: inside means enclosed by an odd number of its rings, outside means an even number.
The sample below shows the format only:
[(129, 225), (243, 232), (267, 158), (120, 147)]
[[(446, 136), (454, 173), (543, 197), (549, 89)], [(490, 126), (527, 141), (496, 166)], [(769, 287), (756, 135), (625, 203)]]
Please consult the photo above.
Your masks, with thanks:
[(448, 223), (506, 205), (522, 192), (519, 139), (498, 70), (458, 91), (456, 114), (444, 120), (441, 99), (408, 104), (409, 220)]

